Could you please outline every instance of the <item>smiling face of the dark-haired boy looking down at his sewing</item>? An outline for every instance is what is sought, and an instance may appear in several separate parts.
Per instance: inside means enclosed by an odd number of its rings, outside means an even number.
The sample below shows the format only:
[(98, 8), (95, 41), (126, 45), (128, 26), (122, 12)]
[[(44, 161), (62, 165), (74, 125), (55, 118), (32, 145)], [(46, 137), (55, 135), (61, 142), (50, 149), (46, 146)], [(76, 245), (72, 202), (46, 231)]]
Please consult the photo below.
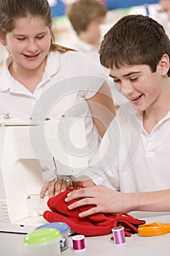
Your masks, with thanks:
[[(109, 69), (115, 86), (139, 111), (146, 111), (163, 102), (163, 87), (161, 68), (152, 72), (147, 65), (113, 66)], [(166, 86), (168, 89), (169, 86)]]

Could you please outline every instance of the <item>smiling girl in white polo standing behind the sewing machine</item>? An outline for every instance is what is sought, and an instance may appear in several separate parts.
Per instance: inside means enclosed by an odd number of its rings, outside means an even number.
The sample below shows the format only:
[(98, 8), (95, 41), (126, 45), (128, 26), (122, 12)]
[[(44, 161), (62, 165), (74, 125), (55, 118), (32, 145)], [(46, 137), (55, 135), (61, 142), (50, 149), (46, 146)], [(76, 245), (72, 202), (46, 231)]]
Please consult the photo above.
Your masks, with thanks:
[[(0, 114), (29, 119), (36, 102), (53, 87), (56, 102), (51, 103), (47, 117), (82, 118), (90, 146), (96, 136), (103, 137), (115, 116), (107, 75), (85, 53), (55, 45), (52, 23), (47, 0), (0, 1), (0, 42), (10, 53), (0, 72)], [(72, 78), (80, 76), (93, 79), (82, 79), (84, 83), (77, 80), (79, 83), (73, 84)], [(61, 86), (63, 80), (69, 80), (65, 91)], [(39, 104), (37, 118), (42, 116), (47, 102)], [(98, 111), (98, 105), (102, 111)], [(90, 159), (95, 151), (98, 143)]]

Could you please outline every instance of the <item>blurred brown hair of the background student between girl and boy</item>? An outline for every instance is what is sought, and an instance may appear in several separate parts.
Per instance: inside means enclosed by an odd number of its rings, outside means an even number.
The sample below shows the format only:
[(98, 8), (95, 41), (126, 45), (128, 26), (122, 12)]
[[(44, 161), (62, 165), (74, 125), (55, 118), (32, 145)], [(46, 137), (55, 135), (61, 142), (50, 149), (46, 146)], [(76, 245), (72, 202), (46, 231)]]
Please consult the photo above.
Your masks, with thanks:
[(66, 15), (77, 34), (85, 31), (92, 20), (104, 18), (106, 14), (107, 7), (98, 0), (78, 0), (66, 10)]

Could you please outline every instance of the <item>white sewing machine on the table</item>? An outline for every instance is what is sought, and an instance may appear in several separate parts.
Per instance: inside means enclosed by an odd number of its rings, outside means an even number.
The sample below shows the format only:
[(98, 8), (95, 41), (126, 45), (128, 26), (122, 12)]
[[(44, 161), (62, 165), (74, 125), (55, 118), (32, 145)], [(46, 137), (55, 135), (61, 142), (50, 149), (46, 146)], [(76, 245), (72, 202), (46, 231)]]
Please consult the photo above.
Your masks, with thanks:
[(0, 119), (0, 231), (28, 233), (47, 223), (40, 162), (53, 173), (57, 167), (58, 175), (77, 176), (88, 167), (87, 150), (81, 119)]

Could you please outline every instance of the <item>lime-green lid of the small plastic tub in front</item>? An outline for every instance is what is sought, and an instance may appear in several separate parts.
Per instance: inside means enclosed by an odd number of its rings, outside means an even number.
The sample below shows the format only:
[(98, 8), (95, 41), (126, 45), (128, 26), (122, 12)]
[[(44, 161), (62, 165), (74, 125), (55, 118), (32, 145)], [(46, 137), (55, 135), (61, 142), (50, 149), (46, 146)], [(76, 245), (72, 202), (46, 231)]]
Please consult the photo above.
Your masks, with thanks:
[(61, 233), (55, 228), (43, 228), (42, 230), (34, 230), (28, 233), (23, 242), (25, 245), (48, 244), (49, 242), (60, 240)]

